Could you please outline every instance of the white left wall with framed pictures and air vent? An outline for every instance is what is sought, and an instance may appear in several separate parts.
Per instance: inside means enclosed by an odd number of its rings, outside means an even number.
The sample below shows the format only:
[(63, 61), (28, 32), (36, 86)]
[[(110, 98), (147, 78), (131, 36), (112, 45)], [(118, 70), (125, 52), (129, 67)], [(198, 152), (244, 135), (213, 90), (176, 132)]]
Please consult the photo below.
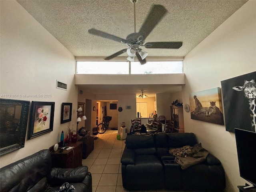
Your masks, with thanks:
[[(60, 142), (62, 130), (76, 126), (60, 124), (62, 102), (73, 103), (76, 114), (77, 88), (74, 85), (74, 56), (14, 0), (1, 1), (0, 94), (51, 94), (50, 98), (10, 98), (55, 102), (53, 131), (25, 141), (25, 147), (0, 157), (0, 167)], [(68, 90), (56, 88), (56, 80)], [(28, 132), (27, 132), (28, 134)]]

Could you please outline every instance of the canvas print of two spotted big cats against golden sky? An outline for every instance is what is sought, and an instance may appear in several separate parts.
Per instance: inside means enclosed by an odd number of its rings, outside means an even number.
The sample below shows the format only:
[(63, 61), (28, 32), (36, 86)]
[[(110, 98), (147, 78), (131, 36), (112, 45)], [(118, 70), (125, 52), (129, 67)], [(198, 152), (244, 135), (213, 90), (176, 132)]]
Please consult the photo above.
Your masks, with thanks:
[(190, 94), (191, 118), (224, 125), (220, 88)]

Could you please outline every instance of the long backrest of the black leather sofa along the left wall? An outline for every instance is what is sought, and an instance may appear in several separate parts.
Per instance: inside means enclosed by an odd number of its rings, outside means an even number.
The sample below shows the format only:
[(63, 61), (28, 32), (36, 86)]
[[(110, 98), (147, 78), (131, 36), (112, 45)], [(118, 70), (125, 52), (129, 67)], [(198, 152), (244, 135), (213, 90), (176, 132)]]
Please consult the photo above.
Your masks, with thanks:
[(49, 172), (51, 154), (41, 150), (0, 169), (0, 191), (28, 191)]

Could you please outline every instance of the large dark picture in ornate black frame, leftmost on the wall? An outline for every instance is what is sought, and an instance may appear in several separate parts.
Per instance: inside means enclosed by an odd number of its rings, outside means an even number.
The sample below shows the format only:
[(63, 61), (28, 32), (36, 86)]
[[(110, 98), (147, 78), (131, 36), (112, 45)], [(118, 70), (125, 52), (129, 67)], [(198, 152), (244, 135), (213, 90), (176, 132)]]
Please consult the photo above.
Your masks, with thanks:
[(29, 101), (0, 99), (0, 156), (24, 147)]

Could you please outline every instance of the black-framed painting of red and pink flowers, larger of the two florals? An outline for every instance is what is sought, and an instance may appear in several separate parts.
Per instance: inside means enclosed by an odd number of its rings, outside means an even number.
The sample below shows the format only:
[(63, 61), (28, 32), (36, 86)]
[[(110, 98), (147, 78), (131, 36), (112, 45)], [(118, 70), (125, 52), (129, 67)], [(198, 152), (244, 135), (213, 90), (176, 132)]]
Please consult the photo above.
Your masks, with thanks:
[(32, 101), (28, 139), (53, 130), (54, 102)]

